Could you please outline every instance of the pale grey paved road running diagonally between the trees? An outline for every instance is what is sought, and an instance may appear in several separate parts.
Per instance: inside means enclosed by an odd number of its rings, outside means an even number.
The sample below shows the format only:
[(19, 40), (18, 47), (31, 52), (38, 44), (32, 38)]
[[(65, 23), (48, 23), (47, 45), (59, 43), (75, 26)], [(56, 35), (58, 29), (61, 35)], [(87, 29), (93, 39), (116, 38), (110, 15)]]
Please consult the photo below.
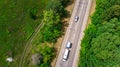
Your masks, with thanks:
[[(57, 57), (55, 67), (77, 67), (78, 55), (80, 51), (81, 37), (83, 37), (83, 31), (86, 28), (87, 19), (89, 16), (89, 10), (92, 0), (76, 0), (74, 9), (69, 21), (69, 26), (66, 31), (61, 50)], [(78, 22), (74, 21), (74, 18), (78, 16)], [(67, 61), (63, 61), (63, 54), (66, 49), (67, 42), (72, 43), (72, 47), (69, 49), (70, 53)]]

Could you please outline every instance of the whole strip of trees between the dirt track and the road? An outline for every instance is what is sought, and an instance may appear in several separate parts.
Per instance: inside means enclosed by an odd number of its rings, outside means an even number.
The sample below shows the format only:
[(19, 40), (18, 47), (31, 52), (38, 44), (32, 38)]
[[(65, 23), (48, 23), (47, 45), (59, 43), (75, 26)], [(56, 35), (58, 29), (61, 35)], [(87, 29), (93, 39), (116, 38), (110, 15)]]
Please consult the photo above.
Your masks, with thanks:
[(63, 34), (63, 22), (61, 19), (67, 16), (65, 6), (68, 2), (69, 0), (51, 0), (43, 11), (43, 25), (39, 33), (39, 43), (44, 45), (37, 45), (36, 47), (39, 50), (34, 52), (41, 55), (40, 63), (37, 64), (39, 67), (51, 67), (50, 63), (55, 57), (55, 49), (54, 45), (46, 45), (45, 43), (54, 44)]

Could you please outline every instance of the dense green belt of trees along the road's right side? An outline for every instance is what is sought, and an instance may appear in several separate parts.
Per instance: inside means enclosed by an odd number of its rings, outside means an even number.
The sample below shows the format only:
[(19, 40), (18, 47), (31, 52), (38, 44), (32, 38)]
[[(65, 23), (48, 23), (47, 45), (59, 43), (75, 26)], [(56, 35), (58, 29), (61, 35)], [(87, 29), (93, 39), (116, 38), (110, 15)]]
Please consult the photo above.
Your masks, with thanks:
[(79, 67), (119, 67), (120, 1), (96, 0), (91, 20), (82, 40)]

